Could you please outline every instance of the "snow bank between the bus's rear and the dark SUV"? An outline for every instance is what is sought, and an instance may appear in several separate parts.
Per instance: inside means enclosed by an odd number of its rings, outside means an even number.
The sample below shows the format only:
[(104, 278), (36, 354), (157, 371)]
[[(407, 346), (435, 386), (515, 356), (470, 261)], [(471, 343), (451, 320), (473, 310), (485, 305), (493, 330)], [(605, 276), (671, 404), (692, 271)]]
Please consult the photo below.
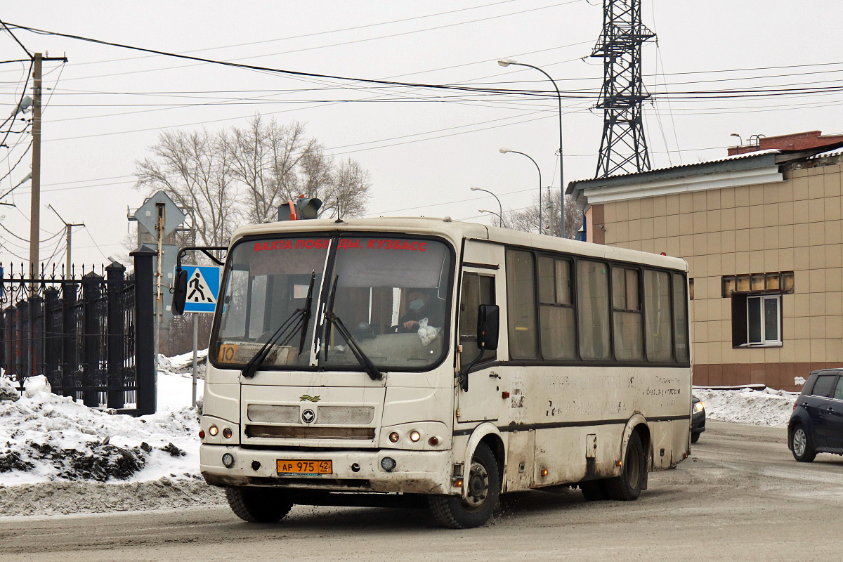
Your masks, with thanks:
[(787, 426), (798, 393), (765, 388), (753, 390), (709, 390), (694, 388), (694, 395), (706, 403), (706, 419), (752, 426)]

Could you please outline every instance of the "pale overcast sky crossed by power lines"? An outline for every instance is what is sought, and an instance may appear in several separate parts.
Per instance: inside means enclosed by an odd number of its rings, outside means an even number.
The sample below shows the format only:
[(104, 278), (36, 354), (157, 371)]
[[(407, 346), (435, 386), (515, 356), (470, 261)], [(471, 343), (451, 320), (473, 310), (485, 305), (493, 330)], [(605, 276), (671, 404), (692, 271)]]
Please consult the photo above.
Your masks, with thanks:
[[(658, 35), (644, 48), (651, 94), (701, 90), (843, 87), (839, 0), (642, 0), (642, 19)], [(559, 87), (594, 94), (602, 62), (588, 58), (602, 25), (599, 0), (452, 0), (450, 2), (39, 2), (6, 3), (0, 18), (72, 35), (158, 51), (190, 53), (301, 72), (411, 83), (482, 83), (552, 90), (529, 68), (499, 67), (510, 57), (542, 67)], [(497, 210), (529, 204), (539, 185), (560, 185), (555, 99), (484, 94), (453, 97), (430, 89), (384, 88), (338, 80), (291, 78), (16, 30), (30, 51), (67, 55), (45, 63), (41, 259), (62, 255), (63, 223), (73, 234), (75, 264), (125, 254), (135, 223), (126, 209), (148, 193), (133, 188), (135, 162), (161, 130), (215, 131), (243, 126), (256, 112), (307, 125), (337, 159), (354, 158), (373, 180), (371, 216), (450, 216), (490, 222)], [(2, 60), (26, 56), (7, 33)], [(0, 113), (8, 115), (29, 65), (0, 65)], [(760, 69), (760, 70), (759, 70)], [(728, 71), (728, 72), (726, 72)], [(30, 84), (31, 85), (31, 84)], [(330, 86), (330, 88), (326, 88)], [(348, 86), (350, 88), (337, 88)], [(105, 93), (113, 93), (105, 94)], [(177, 93), (177, 94), (173, 94)], [(754, 134), (843, 131), (843, 92), (727, 99), (658, 99), (647, 105), (645, 131), (653, 168), (720, 158)], [(347, 101), (347, 100), (366, 101)], [(343, 100), (338, 102), (337, 100)], [(197, 105), (198, 104), (198, 105)], [(593, 177), (603, 115), (593, 99), (565, 99), (567, 183)], [(23, 123), (13, 127), (18, 131)], [(0, 193), (30, 171), (30, 136), (0, 148)], [(0, 206), (0, 262), (28, 256), (30, 189), (21, 185)], [(497, 219), (495, 219), (497, 221)], [(5, 230), (8, 229), (8, 230)], [(99, 245), (99, 249), (97, 248)], [(53, 255), (55, 254), (55, 255)], [(62, 262), (63, 263), (63, 262)]]

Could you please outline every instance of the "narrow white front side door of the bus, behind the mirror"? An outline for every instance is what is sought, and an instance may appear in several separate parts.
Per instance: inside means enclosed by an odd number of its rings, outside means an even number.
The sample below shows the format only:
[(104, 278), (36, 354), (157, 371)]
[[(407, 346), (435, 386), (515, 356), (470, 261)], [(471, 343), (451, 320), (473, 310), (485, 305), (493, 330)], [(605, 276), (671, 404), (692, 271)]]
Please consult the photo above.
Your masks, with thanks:
[[(462, 368), (481, 354), (477, 347), (477, 308), (481, 304), (496, 304), (497, 270), (474, 267), (463, 268), (462, 288), (459, 295), (459, 345)], [(502, 404), (500, 369), (494, 367), (497, 351), (483, 351), (480, 361), (469, 373), (468, 391), (459, 390), (457, 421), (497, 420)]]

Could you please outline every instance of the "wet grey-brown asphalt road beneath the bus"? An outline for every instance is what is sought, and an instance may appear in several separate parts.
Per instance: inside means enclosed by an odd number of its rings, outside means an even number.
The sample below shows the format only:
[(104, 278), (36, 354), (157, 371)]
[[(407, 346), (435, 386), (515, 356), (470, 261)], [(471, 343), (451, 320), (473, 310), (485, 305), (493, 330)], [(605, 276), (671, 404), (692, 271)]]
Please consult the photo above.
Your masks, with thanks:
[(797, 463), (783, 428), (709, 421), (633, 502), (505, 496), (479, 529), (426, 511), (296, 506), (274, 525), (227, 508), (2, 517), (0, 560), (819, 560), (843, 552), (843, 457)]

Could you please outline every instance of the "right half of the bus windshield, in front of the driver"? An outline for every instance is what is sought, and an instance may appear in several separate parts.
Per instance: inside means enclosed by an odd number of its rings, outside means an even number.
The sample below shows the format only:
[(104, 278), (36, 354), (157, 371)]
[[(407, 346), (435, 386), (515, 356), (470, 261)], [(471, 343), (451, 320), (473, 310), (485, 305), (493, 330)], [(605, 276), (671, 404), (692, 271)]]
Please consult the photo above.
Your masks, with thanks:
[[(432, 367), (447, 351), (451, 261), (433, 240), (340, 238), (328, 306), (381, 371)], [(336, 329), (325, 339), (321, 364), (359, 368)]]

